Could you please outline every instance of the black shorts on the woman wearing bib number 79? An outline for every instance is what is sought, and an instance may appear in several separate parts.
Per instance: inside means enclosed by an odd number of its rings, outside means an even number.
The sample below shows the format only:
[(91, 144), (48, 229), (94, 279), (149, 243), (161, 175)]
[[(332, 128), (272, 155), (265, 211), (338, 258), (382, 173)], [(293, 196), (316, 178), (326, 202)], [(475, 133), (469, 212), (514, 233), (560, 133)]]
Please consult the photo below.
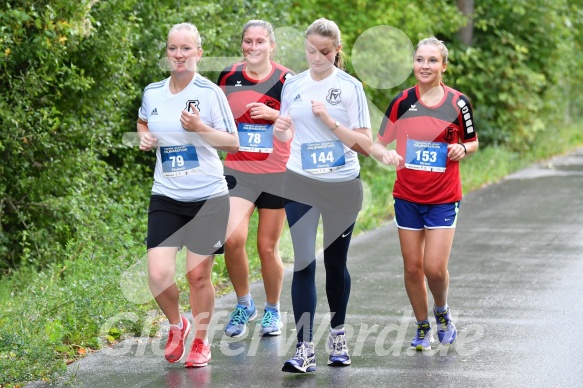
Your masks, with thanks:
[(152, 195), (148, 209), (148, 249), (186, 246), (199, 255), (224, 253), (229, 196), (181, 202)]

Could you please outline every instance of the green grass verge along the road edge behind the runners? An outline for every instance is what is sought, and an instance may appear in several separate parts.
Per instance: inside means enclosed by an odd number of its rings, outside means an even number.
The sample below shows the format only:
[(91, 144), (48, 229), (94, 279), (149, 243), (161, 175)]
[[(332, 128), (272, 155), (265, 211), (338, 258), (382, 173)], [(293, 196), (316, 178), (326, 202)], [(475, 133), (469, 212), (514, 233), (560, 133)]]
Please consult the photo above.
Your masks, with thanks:
[[(505, 146), (481, 149), (462, 162), (464, 191), (498, 182), (511, 172), (563, 154), (578, 145), (583, 145), (583, 121), (543, 133), (527, 153), (518, 153)], [(394, 170), (381, 167), (370, 158), (362, 164), (365, 208), (355, 233), (378, 227), (393, 217)], [(59, 264), (41, 272), (24, 267), (2, 279), (1, 387), (19, 387), (35, 380), (52, 381), (64, 372), (67, 364), (87, 353), (116, 342), (124, 335), (142, 334), (148, 314), (157, 311), (157, 307), (151, 300), (142, 304), (128, 300), (120, 287), (123, 274), (145, 279), (143, 268), (135, 265), (145, 255), (142, 238), (123, 230), (128, 219), (131, 222), (144, 220), (138, 209), (140, 206), (136, 206), (135, 214), (130, 212), (133, 215), (127, 214), (127, 208), (120, 210), (119, 224), (95, 220), (82, 229), (78, 240), (71, 241), (58, 252), (63, 258)], [(253, 280), (260, 277), (254, 237), (256, 222), (255, 214), (247, 245)], [(282, 236), (280, 252), (284, 261), (291, 263), (293, 253), (287, 229)], [(215, 260), (213, 281), (219, 294), (230, 290), (222, 256)], [(178, 284), (181, 289), (187, 289), (183, 279), (179, 279)], [(182, 295), (181, 304), (188, 309), (186, 292)], [(161, 314), (157, 316), (162, 317)]]

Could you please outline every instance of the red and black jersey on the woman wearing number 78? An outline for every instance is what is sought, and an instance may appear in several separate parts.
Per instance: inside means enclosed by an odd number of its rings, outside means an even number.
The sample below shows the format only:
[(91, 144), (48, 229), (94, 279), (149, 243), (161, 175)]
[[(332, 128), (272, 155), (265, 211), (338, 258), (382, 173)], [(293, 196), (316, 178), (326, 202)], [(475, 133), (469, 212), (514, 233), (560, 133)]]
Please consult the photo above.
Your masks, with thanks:
[[(246, 107), (249, 103), (261, 102), (270, 108), (280, 109), (283, 83), (293, 73), (290, 69), (273, 61), (271, 65), (271, 73), (262, 80), (254, 80), (245, 74), (245, 62), (235, 63), (221, 72), (218, 85), (227, 96), (237, 125), (241, 123), (273, 124), (267, 120), (252, 119)], [(290, 142), (291, 140), (284, 143), (274, 138), (271, 153), (239, 151), (228, 154), (225, 165), (253, 174), (284, 172), (289, 158)]]

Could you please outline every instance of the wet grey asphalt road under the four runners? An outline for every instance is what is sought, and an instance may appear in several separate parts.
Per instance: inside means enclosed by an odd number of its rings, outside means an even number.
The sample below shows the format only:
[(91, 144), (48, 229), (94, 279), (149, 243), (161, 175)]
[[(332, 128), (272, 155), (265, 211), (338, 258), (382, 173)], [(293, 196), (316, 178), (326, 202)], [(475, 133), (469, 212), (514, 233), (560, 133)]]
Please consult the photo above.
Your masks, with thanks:
[[(314, 373), (281, 372), (295, 347), (292, 272), (286, 270), (281, 308), (289, 316), (282, 336), (261, 338), (253, 323), (245, 337), (225, 337), (235, 301), (230, 294), (217, 299), (208, 367), (168, 364), (160, 338), (129, 339), (70, 365), (59, 386), (581, 387), (582, 218), (583, 149), (466, 195), (449, 265), (448, 301), (459, 330), (450, 347), (408, 349), (414, 319), (390, 223), (352, 241), (350, 367), (326, 365), (329, 321), (320, 257)], [(262, 284), (253, 284), (251, 292), (263, 306)]]

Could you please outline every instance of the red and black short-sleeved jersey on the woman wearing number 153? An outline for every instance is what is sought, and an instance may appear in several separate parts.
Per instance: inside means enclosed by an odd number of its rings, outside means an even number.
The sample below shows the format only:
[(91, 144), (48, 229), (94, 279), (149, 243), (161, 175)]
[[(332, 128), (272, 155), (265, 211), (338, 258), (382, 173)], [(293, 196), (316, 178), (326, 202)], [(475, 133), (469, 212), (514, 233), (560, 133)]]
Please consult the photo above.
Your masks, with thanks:
[(444, 168), (440, 169), (419, 167), (408, 160), (427, 156), (411, 149), (419, 147), (416, 144), (443, 149), (448, 144), (478, 139), (469, 99), (455, 89), (441, 86), (445, 94), (437, 105), (424, 105), (418, 86), (414, 86), (399, 93), (385, 113), (377, 137), (383, 144), (396, 140), (397, 153), (403, 157), (397, 166), (393, 189), (396, 198), (423, 204), (450, 203), (462, 198), (458, 161), (445, 158)]

